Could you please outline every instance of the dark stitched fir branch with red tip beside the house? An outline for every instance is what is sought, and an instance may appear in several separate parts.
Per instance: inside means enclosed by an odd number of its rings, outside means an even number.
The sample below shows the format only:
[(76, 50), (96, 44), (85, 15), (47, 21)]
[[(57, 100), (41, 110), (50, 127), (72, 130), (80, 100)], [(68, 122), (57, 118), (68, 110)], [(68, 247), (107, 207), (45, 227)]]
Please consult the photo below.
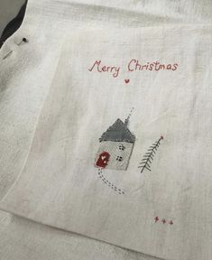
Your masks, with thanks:
[(151, 164), (153, 161), (153, 157), (154, 157), (156, 151), (158, 150), (162, 139), (163, 139), (163, 136), (161, 136), (158, 139), (158, 141), (154, 142), (150, 146), (150, 148), (147, 150), (147, 153), (145, 153), (143, 155), (143, 160), (141, 163), (139, 163), (140, 165), (138, 166), (138, 168), (141, 168), (141, 173), (144, 171), (144, 169), (147, 169), (148, 171), (151, 172)]

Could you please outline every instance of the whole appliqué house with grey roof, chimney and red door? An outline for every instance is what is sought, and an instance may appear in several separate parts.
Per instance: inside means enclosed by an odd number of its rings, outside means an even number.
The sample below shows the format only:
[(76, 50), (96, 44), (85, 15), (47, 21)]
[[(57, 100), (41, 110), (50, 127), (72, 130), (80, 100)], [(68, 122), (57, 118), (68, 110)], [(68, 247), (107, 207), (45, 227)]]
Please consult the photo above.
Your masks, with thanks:
[(128, 128), (129, 116), (124, 121), (117, 119), (99, 138), (95, 165), (98, 168), (127, 170), (134, 149), (135, 136)]

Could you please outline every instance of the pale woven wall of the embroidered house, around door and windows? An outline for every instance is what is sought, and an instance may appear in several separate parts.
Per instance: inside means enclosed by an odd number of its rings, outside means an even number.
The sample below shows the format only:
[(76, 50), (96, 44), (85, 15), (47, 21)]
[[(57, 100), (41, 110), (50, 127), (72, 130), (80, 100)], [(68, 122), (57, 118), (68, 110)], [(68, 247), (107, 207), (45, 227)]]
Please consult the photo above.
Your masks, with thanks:
[[(119, 147), (124, 146), (124, 150), (121, 150)], [(110, 154), (109, 161), (106, 165), (106, 169), (111, 170), (127, 170), (129, 159), (133, 151), (134, 144), (126, 142), (112, 142), (112, 141), (102, 141), (99, 144), (99, 149), (97, 151), (96, 161), (99, 157), (99, 154), (107, 152)], [(117, 161), (117, 156), (121, 156), (123, 160)], [(96, 165), (97, 166), (97, 165)]]

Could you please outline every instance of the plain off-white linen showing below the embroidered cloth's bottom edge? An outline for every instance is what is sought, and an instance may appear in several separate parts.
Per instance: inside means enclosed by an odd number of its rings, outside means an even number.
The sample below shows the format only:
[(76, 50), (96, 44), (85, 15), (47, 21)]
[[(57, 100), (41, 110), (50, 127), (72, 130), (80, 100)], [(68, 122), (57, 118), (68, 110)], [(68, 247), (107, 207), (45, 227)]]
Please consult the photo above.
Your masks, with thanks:
[[(0, 214), (1, 260), (155, 260), (155, 257)], [(158, 258), (157, 258), (158, 259)]]

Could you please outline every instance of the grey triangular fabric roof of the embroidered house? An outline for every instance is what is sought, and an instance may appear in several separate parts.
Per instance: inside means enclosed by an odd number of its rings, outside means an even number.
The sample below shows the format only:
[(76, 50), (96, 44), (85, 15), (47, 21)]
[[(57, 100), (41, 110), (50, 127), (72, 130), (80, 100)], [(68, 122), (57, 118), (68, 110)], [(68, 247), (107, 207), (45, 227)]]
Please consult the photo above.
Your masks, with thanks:
[(99, 141), (115, 141), (134, 143), (135, 136), (130, 132), (127, 125), (121, 119), (117, 119), (114, 125), (111, 125), (105, 133), (99, 138)]

